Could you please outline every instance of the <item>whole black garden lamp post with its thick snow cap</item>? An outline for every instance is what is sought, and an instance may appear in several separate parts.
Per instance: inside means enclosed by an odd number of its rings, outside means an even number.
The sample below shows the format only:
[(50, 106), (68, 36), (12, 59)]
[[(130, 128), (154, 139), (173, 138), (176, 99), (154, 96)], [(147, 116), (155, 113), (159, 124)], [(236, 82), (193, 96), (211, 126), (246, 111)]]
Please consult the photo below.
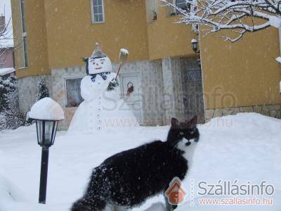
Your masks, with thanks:
[(63, 108), (51, 98), (43, 98), (35, 103), (28, 117), (36, 122), (37, 141), (42, 148), (39, 203), (46, 203), (48, 177), (48, 148), (55, 142), (58, 122), (64, 119)]

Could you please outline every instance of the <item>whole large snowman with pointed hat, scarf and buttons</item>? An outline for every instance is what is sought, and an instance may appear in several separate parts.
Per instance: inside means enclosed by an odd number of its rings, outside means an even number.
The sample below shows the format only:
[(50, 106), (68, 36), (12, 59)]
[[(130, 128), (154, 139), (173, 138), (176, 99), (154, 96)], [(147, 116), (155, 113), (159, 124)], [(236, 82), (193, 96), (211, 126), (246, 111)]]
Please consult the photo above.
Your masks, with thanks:
[(136, 117), (121, 98), (118, 77), (98, 44), (86, 58), (86, 77), (81, 80), (84, 101), (77, 108), (69, 132), (94, 132), (112, 127), (138, 126)]

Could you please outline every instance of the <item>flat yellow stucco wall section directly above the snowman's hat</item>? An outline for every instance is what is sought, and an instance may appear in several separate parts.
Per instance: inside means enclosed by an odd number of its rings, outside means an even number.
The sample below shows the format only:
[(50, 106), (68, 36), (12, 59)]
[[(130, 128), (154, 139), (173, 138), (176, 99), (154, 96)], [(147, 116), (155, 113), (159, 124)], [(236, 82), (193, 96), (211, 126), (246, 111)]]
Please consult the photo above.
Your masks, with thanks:
[(91, 24), (91, 1), (46, 2), (46, 27), (50, 68), (84, 65), (96, 42), (113, 62), (119, 50), (129, 50), (129, 60), (148, 59), (145, 1), (104, 0), (105, 23)]

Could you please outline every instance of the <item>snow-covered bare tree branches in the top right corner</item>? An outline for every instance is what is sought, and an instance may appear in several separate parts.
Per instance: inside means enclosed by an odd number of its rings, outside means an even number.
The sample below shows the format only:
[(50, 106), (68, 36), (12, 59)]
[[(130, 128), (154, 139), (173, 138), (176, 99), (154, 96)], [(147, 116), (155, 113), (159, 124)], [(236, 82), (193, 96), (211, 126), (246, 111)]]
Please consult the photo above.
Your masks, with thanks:
[(234, 33), (223, 39), (235, 42), (247, 32), (281, 27), (281, 0), (186, 0), (184, 9), (170, 0), (161, 1), (181, 13), (178, 23), (202, 25), (203, 36), (228, 30)]

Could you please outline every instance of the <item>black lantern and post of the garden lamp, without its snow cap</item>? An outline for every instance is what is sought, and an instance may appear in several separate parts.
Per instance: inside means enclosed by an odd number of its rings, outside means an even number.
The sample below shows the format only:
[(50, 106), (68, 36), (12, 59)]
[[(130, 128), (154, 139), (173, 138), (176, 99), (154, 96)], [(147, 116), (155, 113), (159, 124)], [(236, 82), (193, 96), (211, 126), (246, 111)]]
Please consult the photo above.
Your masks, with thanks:
[(55, 142), (58, 120), (36, 120), (37, 141), (42, 147), (39, 203), (46, 203), (48, 148)]

